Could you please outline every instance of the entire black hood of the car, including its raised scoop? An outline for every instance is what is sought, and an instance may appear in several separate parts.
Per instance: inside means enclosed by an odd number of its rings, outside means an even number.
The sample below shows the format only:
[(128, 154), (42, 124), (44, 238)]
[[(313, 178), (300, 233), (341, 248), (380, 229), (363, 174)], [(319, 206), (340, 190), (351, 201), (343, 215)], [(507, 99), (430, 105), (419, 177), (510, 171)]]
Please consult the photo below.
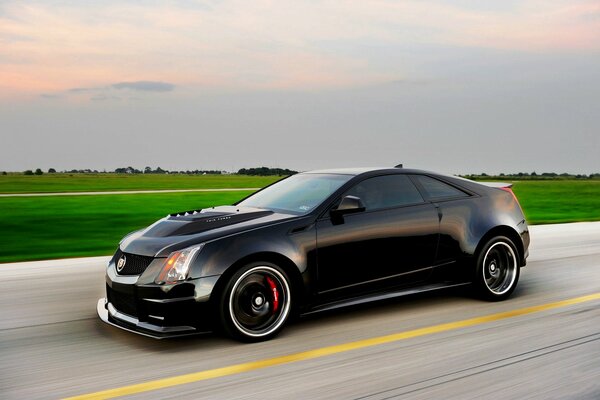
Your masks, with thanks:
[(287, 219), (296, 215), (251, 207), (220, 206), (167, 215), (120, 243), (126, 253), (167, 257), (172, 251)]

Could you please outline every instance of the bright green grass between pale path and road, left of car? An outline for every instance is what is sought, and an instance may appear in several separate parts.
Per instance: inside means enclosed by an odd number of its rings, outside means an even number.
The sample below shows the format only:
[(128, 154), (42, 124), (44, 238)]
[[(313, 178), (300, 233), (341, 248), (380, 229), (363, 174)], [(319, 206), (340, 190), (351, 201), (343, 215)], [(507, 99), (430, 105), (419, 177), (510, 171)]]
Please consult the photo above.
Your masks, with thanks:
[(126, 233), (169, 213), (232, 204), (250, 193), (0, 198), (0, 262), (110, 254)]

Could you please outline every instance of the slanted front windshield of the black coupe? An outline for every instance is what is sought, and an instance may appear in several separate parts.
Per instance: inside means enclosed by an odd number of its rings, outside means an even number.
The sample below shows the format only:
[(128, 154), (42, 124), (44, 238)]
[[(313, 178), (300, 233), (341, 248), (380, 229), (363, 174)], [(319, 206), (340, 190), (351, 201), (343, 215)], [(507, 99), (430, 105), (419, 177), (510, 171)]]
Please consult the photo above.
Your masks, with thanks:
[(240, 206), (306, 214), (348, 182), (352, 175), (298, 174), (238, 203)]

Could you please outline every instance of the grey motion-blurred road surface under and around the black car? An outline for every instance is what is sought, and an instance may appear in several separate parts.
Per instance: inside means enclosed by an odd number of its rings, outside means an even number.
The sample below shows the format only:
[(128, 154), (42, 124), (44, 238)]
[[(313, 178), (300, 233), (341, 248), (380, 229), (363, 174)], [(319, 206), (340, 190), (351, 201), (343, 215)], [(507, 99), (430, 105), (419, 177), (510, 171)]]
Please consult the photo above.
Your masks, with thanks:
[[(301, 319), (273, 341), (153, 340), (96, 317), (106, 257), (0, 265), (0, 398), (61, 398), (600, 292), (600, 223), (532, 227), (508, 301), (454, 291)], [(600, 299), (126, 396), (600, 399)], [(362, 343), (362, 342), (361, 342)]]

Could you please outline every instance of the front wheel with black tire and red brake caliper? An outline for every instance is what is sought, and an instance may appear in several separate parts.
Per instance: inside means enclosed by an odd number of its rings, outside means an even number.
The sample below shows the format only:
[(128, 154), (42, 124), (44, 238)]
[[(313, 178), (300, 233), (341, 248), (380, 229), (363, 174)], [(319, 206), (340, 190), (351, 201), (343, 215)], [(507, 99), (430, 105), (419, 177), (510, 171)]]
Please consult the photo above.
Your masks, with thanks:
[(219, 320), (228, 336), (260, 342), (276, 336), (291, 311), (290, 281), (280, 267), (268, 262), (248, 264), (225, 285)]

